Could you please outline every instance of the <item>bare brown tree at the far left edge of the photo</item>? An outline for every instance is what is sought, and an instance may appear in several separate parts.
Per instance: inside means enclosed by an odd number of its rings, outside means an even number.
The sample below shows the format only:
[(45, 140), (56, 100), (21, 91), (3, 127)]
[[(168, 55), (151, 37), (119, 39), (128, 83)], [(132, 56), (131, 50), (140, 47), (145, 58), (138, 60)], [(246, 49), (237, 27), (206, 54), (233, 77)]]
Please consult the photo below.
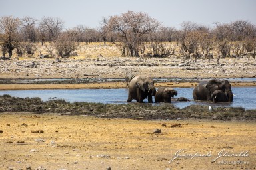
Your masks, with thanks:
[(18, 32), (20, 26), (21, 21), (19, 18), (15, 18), (13, 16), (5, 16), (0, 18), (0, 42), (3, 55), (5, 55), (5, 50), (7, 50), (10, 57), (13, 55), (13, 50), (19, 42)]

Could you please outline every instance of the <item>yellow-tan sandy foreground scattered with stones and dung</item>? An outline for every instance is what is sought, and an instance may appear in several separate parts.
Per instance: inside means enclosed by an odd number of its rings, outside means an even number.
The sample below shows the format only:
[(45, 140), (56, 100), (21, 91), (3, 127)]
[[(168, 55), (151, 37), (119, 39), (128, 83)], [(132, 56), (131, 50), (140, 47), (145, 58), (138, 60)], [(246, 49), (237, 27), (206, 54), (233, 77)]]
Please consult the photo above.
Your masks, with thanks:
[[(154, 133), (155, 129), (161, 133)], [(0, 115), (0, 130), (0, 169), (256, 167), (255, 122), (139, 121), (5, 112)], [(41, 133), (33, 133), (37, 131)], [(187, 158), (175, 158), (175, 154)]]

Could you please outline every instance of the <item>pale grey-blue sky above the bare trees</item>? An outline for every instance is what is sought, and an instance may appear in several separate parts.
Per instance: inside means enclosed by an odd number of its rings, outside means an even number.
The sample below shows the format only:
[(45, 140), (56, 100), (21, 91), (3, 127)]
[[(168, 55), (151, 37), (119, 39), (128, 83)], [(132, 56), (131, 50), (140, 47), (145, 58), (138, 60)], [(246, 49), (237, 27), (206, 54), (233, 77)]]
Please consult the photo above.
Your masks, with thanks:
[(0, 0), (0, 4), (0, 17), (59, 17), (65, 28), (97, 28), (103, 17), (127, 11), (145, 12), (163, 26), (177, 29), (183, 21), (213, 27), (215, 22), (241, 19), (256, 25), (255, 0)]

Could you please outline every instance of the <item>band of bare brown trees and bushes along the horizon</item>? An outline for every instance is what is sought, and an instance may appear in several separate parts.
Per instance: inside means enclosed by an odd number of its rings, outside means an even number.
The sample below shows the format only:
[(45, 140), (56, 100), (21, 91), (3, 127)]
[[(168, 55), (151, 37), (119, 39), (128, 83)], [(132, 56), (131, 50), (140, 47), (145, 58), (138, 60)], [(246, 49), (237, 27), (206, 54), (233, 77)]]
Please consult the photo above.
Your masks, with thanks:
[[(231, 23), (214, 23), (211, 28), (186, 21), (181, 29), (164, 27), (147, 13), (127, 11), (121, 15), (103, 17), (99, 28), (78, 25), (65, 29), (64, 21), (54, 17), (13, 16), (0, 18), (0, 44), (2, 55), (33, 55), (35, 42), (42, 45), (51, 42), (59, 56), (70, 56), (80, 42), (111, 42), (121, 50), (123, 56), (139, 56), (148, 51), (155, 56), (174, 54), (179, 48), (185, 52), (203, 54), (217, 51), (223, 57), (243, 56), (256, 50), (256, 26), (249, 21), (237, 20)], [(169, 42), (175, 45), (170, 46)], [(52, 54), (53, 49), (47, 48)]]

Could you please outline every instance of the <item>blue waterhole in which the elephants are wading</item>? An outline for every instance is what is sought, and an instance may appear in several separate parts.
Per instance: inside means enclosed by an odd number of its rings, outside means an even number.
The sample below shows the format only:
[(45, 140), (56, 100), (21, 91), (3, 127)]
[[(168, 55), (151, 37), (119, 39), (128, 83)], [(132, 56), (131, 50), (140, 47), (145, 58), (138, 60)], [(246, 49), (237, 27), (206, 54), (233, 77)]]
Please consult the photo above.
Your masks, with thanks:
[[(256, 109), (256, 87), (233, 87), (232, 91), (235, 94), (233, 102), (217, 103), (193, 101), (193, 88), (175, 88), (178, 95), (175, 98), (185, 97), (191, 100), (190, 102), (172, 101), (175, 107), (185, 108), (191, 104), (201, 104), (207, 106), (222, 106), (222, 107), (243, 107), (246, 110)], [(67, 102), (95, 102), (104, 104), (126, 104), (128, 90), (121, 89), (72, 89), (72, 90), (4, 90), (0, 91), (0, 95), (9, 94), (19, 98), (39, 97), (43, 101), (49, 99), (64, 99)], [(153, 98), (154, 99), (154, 98)], [(133, 100), (135, 102), (135, 100)], [(147, 100), (144, 100), (147, 102)]]

